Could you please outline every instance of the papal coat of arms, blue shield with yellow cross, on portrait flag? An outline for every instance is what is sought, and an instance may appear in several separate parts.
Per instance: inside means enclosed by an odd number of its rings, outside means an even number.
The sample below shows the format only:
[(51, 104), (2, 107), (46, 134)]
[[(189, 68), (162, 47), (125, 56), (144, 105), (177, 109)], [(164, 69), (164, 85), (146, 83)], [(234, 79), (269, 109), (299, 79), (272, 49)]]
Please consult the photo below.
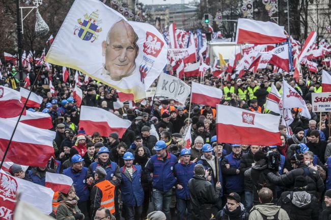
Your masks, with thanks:
[[(99, 13), (98, 10), (92, 12), (90, 16), (88, 14), (84, 15), (84, 21), (81, 21), (79, 18), (77, 20), (80, 27), (75, 28), (74, 35), (78, 35), (78, 37), (83, 41), (91, 41), (93, 43), (98, 39), (97, 33), (102, 31), (102, 28), (98, 28), (101, 20), (98, 20)], [(78, 32), (78, 33), (77, 33)]]

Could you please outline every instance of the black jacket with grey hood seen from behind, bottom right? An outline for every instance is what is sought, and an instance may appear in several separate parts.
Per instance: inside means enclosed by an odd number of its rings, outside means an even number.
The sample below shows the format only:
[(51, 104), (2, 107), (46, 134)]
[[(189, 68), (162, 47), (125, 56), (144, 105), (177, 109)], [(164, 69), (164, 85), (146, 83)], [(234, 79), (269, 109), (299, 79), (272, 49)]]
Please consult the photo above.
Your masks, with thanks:
[(318, 199), (307, 192), (282, 193), (277, 205), (281, 206), (291, 220), (318, 219)]

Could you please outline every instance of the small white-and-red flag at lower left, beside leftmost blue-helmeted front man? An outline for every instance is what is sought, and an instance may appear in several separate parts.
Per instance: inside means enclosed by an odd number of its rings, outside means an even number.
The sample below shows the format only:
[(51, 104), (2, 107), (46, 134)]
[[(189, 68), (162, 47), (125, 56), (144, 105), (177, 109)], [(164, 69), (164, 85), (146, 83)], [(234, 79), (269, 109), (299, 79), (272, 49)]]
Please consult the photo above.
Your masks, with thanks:
[(68, 194), (73, 181), (69, 176), (46, 172), (45, 187), (51, 188), (54, 192)]

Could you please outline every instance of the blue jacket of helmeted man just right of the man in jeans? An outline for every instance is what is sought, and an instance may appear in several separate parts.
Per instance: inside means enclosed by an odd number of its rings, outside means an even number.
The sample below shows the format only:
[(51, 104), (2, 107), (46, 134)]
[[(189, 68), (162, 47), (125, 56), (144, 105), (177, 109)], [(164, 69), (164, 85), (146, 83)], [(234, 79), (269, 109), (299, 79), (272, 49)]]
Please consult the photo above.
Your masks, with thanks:
[(182, 163), (178, 163), (175, 165), (175, 176), (177, 177), (177, 183), (183, 186), (182, 190), (178, 190), (176, 187), (176, 197), (180, 199), (189, 199), (189, 191), (188, 191), (188, 180), (193, 178), (194, 175), (194, 166), (196, 163), (189, 163), (188, 165), (184, 165)]

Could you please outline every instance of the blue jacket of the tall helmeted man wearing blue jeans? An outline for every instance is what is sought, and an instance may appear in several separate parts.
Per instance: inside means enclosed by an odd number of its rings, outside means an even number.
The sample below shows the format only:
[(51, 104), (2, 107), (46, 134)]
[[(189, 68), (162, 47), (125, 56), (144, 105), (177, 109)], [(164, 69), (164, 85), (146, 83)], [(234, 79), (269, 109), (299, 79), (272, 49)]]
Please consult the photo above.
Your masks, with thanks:
[(174, 166), (177, 164), (175, 155), (167, 152), (167, 160), (158, 158), (157, 154), (148, 160), (145, 171), (147, 174), (153, 173), (153, 188), (161, 192), (167, 192), (175, 185)]

